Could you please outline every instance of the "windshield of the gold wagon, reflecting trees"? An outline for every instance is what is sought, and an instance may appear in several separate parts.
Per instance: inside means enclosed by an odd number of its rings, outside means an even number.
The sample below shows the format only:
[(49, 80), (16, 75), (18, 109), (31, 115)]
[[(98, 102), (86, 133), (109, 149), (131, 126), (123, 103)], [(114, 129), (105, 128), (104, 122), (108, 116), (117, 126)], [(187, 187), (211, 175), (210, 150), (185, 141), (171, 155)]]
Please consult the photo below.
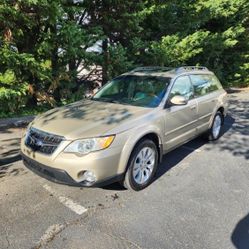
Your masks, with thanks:
[(155, 76), (120, 76), (108, 82), (92, 98), (97, 101), (143, 107), (157, 107), (167, 90), (170, 78)]

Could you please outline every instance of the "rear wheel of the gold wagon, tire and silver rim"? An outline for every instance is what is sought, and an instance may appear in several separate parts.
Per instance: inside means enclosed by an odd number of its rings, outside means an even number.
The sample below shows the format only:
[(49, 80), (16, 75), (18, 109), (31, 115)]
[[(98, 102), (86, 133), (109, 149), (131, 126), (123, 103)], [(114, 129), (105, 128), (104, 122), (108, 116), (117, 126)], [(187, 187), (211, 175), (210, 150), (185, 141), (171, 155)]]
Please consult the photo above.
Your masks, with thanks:
[(215, 141), (220, 138), (222, 126), (224, 123), (223, 121), (224, 117), (222, 113), (220, 111), (216, 112), (216, 114), (214, 115), (214, 119), (212, 121), (212, 125), (207, 133), (207, 139), (209, 141)]

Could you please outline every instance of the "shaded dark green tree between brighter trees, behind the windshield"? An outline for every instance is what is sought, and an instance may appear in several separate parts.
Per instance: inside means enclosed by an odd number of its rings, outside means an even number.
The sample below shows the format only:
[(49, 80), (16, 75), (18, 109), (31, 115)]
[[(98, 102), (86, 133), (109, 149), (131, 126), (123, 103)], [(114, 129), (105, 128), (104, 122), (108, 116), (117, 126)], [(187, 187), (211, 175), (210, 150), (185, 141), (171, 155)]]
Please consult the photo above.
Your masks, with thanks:
[(132, 41), (142, 32), (138, 13), (144, 1), (86, 0), (86, 26), (101, 27), (104, 39), (101, 47), (102, 83), (132, 68)]

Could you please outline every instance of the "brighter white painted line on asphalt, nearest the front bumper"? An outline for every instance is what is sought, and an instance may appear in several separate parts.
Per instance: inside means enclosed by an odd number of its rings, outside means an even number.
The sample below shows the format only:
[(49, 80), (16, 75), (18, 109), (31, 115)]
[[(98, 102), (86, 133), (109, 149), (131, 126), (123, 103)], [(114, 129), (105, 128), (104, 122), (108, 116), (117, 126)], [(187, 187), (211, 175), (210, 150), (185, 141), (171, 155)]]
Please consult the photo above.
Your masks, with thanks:
[(54, 191), (49, 185), (45, 184), (43, 185), (43, 188), (45, 188), (49, 193), (54, 195), (60, 203), (62, 203), (64, 206), (67, 208), (71, 209), (73, 212), (75, 212), (78, 215), (82, 215), (87, 211), (86, 208), (83, 206), (79, 205), (78, 203), (74, 202), (73, 200), (59, 195), (56, 191)]

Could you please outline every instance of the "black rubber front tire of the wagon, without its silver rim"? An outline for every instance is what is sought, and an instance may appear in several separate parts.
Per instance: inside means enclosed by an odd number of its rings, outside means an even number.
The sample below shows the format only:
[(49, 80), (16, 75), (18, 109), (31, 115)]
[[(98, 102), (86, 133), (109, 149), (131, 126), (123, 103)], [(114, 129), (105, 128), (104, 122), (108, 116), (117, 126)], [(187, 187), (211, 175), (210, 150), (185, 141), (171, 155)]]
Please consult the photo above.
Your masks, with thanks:
[[(134, 163), (135, 163), (135, 160), (136, 160), (138, 153), (144, 147), (152, 148), (155, 151), (155, 165), (154, 165), (153, 171), (152, 171), (149, 179), (143, 184), (138, 184), (134, 180), (134, 177), (133, 177), (133, 167), (134, 167)], [(129, 187), (135, 191), (139, 191), (139, 190), (146, 188), (151, 183), (151, 181), (156, 173), (157, 166), (158, 166), (158, 150), (157, 150), (155, 143), (153, 141), (147, 140), (147, 139), (142, 140), (138, 145), (135, 146), (135, 148), (131, 154), (131, 157), (130, 157), (130, 160), (128, 163), (128, 169), (126, 172), (126, 179), (125, 179), (126, 183), (128, 183)]]

